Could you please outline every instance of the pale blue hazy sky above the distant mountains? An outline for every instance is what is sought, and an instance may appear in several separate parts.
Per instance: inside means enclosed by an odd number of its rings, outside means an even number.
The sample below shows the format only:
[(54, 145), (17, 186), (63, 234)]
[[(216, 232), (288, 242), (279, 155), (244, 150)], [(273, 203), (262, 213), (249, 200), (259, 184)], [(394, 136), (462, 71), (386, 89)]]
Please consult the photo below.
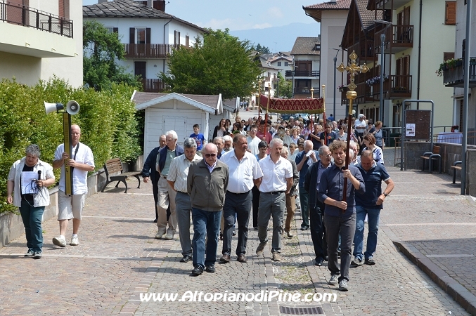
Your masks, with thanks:
[[(83, 5), (98, 3), (97, 0), (82, 1)], [(168, 0), (165, 12), (200, 27), (236, 31), (292, 22), (316, 23), (304, 14), (302, 6), (322, 2), (324, 0)]]

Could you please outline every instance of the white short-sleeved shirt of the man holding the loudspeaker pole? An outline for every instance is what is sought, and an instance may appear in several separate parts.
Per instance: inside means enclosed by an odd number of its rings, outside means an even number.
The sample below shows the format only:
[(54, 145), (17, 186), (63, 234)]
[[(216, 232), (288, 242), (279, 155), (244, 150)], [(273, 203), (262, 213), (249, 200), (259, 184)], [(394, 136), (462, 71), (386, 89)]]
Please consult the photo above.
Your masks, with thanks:
[[(63, 152), (65, 152), (65, 144), (61, 144), (56, 148), (54, 160), (62, 159)], [(91, 148), (81, 142), (77, 143), (75, 147), (72, 147), (70, 159), (74, 159), (75, 162), (79, 162), (80, 164), (94, 166), (94, 157)], [(77, 168), (72, 170), (72, 193), (74, 195), (84, 195), (84, 193), (88, 192), (87, 178), (88, 171), (79, 170)], [(66, 191), (65, 164), (61, 166), (60, 190), (63, 192)]]

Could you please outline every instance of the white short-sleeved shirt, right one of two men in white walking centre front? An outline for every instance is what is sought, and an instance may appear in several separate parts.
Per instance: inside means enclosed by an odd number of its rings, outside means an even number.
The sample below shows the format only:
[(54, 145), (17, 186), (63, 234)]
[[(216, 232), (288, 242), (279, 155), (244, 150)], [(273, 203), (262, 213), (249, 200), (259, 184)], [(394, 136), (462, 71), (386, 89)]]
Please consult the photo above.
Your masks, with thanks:
[(285, 192), (288, 188), (286, 178), (292, 178), (292, 166), (288, 159), (279, 157), (276, 164), (271, 156), (259, 160), (259, 166), (263, 171), (263, 179), (259, 185), (259, 192)]

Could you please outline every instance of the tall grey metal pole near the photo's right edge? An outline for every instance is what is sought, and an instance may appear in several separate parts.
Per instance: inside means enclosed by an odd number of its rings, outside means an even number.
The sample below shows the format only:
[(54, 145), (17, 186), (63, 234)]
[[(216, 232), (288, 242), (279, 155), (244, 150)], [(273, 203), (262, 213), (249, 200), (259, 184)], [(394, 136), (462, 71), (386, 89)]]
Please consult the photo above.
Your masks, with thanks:
[(468, 93), (470, 84), (471, 0), (466, 2), (465, 86), (463, 97), (463, 139), (461, 140), (461, 195), (466, 192), (466, 151), (468, 149)]

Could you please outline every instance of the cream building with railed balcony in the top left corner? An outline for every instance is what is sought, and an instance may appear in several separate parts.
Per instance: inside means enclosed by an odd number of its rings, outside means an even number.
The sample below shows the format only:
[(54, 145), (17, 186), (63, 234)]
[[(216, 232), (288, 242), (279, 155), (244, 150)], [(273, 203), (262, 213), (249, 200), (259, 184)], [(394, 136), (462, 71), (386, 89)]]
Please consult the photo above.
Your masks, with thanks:
[(83, 84), (81, 1), (0, 1), (0, 74), (27, 85), (53, 74)]

